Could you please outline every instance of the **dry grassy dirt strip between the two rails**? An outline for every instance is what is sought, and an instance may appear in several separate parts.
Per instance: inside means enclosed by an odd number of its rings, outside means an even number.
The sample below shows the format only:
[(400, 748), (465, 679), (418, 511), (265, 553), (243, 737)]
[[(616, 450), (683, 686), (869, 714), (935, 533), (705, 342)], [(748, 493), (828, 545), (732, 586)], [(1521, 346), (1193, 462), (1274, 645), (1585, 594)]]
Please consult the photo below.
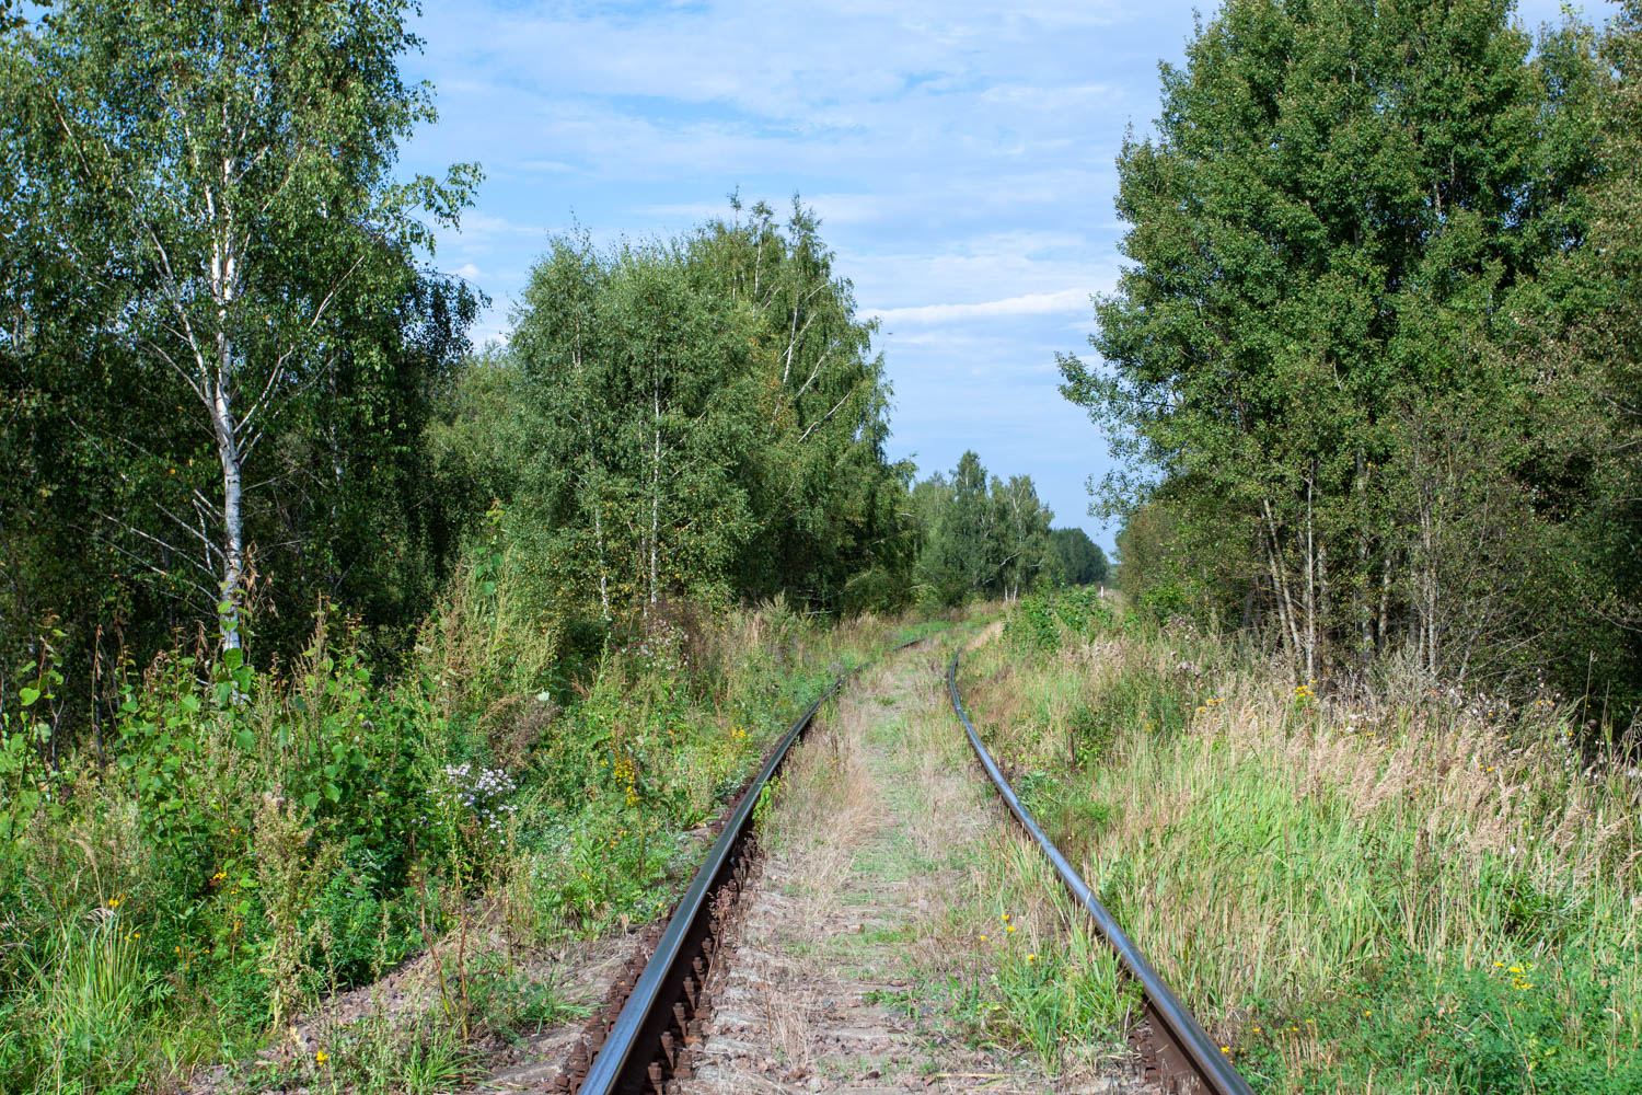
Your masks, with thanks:
[(982, 864), (1015, 837), (951, 747), (941, 668), (900, 655), (793, 757), (683, 1092), (1148, 1090), (1121, 1051), (1053, 1080), (1033, 1056), (977, 1049), (990, 1039), (959, 1015), (985, 939)]

